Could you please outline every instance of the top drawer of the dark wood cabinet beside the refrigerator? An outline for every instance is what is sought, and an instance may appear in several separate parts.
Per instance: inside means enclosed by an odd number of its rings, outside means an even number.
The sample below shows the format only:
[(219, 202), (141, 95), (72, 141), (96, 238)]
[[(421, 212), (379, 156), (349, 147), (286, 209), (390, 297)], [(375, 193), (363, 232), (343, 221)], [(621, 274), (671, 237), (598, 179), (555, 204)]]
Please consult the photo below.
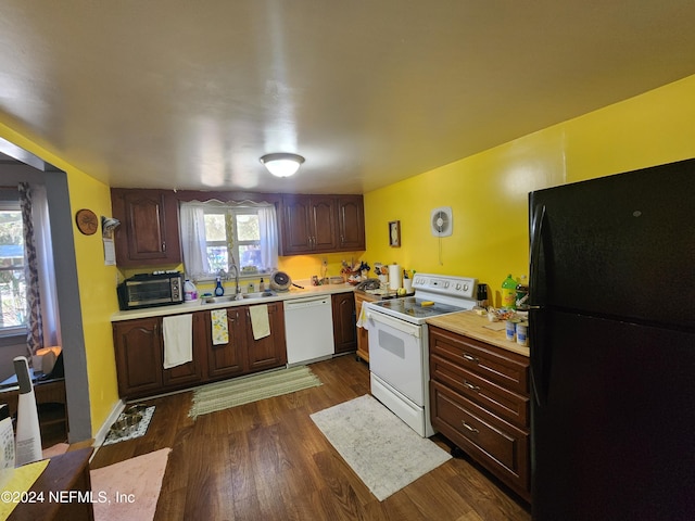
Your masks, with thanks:
[(529, 394), (529, 360), (521, 355), (439, 328), (430, 328), (430, 353), (509, 391)]

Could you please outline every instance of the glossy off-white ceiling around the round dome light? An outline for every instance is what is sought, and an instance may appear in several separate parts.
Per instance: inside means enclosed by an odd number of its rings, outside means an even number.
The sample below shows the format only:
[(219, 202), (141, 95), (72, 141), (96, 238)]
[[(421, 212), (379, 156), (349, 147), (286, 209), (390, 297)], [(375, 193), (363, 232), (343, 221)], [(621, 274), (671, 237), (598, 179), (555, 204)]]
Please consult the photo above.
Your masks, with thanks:
[[(364, 193), (695, 73), (692, 0), (0, 0), (0, 120), (113, 187)], [(274, 179), (258, 157), (296, 152)]]

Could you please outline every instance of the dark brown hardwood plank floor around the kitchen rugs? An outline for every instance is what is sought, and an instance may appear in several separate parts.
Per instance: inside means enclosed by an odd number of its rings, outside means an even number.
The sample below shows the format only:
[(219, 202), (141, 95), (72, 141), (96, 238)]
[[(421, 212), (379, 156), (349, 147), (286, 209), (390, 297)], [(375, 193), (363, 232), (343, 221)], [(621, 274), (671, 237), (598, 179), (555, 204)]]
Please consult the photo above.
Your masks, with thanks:
[[(343, 356), (311, 367), (321, 386), (195, 421), (188, 417), (190, 392), (141, 402), (156, 405), (148, 433), (101, 447), (91, 467), (173, 448), (157, 521), (531, 519), (528, 506), (456, 458), (380, 503), (309, 418), (368, 394), (367, 366)], [(448, 448), (443, 439), (432, 440)]]

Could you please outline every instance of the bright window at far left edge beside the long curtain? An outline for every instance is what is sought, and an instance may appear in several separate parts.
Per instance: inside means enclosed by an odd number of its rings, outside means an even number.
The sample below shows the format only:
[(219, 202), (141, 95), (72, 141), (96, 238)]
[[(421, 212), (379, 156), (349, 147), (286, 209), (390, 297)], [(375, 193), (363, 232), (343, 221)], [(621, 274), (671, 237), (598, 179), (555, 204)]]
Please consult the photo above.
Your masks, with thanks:
[(22, 212), (0, 200), (0, 336), (26, 333), (26, 319)]

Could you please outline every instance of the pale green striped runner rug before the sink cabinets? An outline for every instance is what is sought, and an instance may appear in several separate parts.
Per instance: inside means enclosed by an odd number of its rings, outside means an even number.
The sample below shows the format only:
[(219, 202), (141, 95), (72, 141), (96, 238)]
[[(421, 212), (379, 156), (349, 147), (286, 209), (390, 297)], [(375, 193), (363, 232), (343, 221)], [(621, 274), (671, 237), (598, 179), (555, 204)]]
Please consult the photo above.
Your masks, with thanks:
[(188, 416), (197, 418), (318, 385), (321, 385), (321, 381), (306, 366), (210, 383), (193, 391), (193, 405)]

